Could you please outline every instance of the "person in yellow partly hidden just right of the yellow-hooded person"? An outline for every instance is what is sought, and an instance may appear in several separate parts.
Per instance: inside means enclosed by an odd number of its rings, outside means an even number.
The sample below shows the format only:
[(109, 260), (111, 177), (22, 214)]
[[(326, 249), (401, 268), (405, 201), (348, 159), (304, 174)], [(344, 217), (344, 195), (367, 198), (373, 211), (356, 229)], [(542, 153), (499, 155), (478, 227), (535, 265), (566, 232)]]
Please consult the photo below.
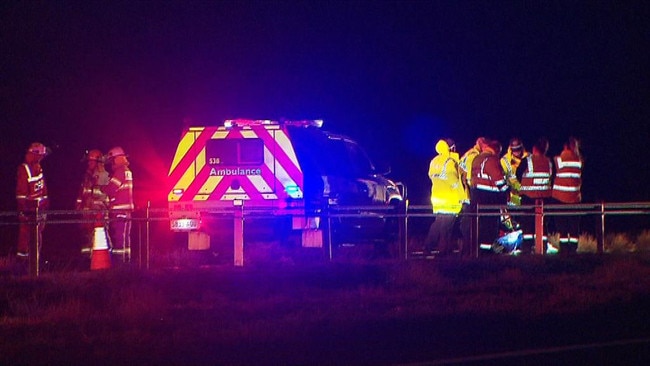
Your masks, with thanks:
[(472, 237), (472, 216), (470, 215), (470, 200), (469, 193), (472, 180), (472, 161), (478, 154), (481, 153), (486, 146), (486, 138), (479, 137), (476, 143), (469, 150), (467, 150), (460, 158), (458, 168), (461, 176), (461, 181), (465, 189), (465, 199), (463, 200), (463, 207), (460, 216), (460, 232), (461, 232), (461, 255), (463, 257), (472, 257), (477, 253), (472, 250), (474, 248), (475, 238)]

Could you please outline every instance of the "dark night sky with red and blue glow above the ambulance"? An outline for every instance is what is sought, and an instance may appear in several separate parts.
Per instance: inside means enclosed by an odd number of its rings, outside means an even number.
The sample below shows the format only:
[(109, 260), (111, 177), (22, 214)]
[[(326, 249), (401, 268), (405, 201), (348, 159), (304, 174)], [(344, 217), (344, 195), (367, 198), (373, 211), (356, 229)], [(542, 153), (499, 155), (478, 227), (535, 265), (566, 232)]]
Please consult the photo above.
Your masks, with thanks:
[(550, 156), (574, 135), (586, 202), (648, 201), (648, 19), (641, 1), (3, 1), (0, 209), (32, 141), (54, 149), (53, 209), (84, 150), (115, 145), (142, 205), (164, 202), (185, 123), (281, 117), (355, 138), (413, 204), (436, 141), (481, 135), (546, 136)]

